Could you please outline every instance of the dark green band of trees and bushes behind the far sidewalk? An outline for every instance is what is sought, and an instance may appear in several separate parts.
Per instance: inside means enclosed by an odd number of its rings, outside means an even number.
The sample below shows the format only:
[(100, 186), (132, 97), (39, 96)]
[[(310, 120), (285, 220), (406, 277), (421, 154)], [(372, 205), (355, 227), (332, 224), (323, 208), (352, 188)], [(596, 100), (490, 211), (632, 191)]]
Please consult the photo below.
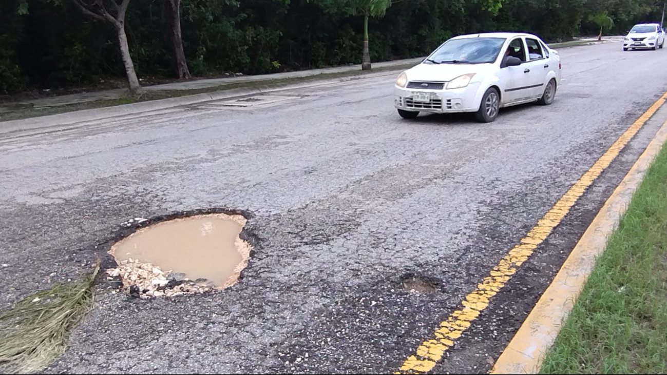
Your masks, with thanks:
[[(654, 0), (3, 0), (0, 101), (123, 77), (225, 77), (419, 57), (480, 31), (550, 42), (660, 19)], [(613, 23), (609, 23), (613, 21)], [(602, 24), (601, 24), (602, 22)]]

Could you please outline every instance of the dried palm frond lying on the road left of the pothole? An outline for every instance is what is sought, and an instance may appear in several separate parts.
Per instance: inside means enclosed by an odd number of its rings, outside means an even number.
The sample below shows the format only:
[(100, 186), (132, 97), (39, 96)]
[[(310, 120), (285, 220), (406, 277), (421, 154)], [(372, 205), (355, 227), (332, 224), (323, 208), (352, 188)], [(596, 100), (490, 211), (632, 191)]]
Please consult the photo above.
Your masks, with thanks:
[(41, 290), (0, 314), (0, 370), (33, 373), (62, 354), (67, 332), (93, 306), (98, 271), (99, 262), (81, 282)]

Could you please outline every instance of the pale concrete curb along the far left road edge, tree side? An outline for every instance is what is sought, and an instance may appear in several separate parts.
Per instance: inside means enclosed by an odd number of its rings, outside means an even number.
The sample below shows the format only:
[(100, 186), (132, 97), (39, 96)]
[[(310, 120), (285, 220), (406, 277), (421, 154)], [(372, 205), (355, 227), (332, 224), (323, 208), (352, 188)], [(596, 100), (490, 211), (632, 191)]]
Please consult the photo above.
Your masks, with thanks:
[(321, 76), (307, 77), (307, 81), (300, 83), (268, 83), (265, 85), (257, 85), (251, 88), (229, 89), (222, 91), (214, 91), (211, 93), (186, 95), (177, 98), (158, 99), (154, 101), (145, 101), (141, 103), (131, 103), (125, 105), (117, 105), (113, 107), (103, 107), (95, 109), (85, 109), (82, 111), (73, 111), (67, 113), (60, 113), (58, 115), (48, 115), (42, 117), (31, 117), (29, 119), (20, 119), (12, 121), (0, 122), (0, 135), (16, 133), (20, 131), (29, 131), (35, 129), (42, 129), (47, 127), (59, 127), (63, 125), (73, 125), (76, 123), (83, 123), (86, 121), (97, 121), (101, 119), (108, 119), (111, 117), (118, 117), (123, 115), (131, 115), (136, 113), (147, 113), (151, 111), (159, 111), (161, 109), (169, 109), (184, 105), (191, 105), (195, 103), (202, 103), (206, 101), (215, 101), (221, 99), (229, 99), (233, 97), (243, 97), (245, 95), (256, 95), (259, 93), (271, 93), (273, 91), (281, 91), (287, 89), (302, 89), (306, 87), (317, 87), (322, 85), (331, 85), (332, 83), (342, 83), (348, 81), (372, 79), (375, 77), (389, 76), (396, 74), (396, 71), (401, 71), (408, 65), (396, 65), (395, 67), (386, 67), (377, 73), (362, 73), (358, 75), (350, 75), (347, 77), (340, 77), (333, 79), (327, 75), (336, 75), (340, 73), (323, 73)]

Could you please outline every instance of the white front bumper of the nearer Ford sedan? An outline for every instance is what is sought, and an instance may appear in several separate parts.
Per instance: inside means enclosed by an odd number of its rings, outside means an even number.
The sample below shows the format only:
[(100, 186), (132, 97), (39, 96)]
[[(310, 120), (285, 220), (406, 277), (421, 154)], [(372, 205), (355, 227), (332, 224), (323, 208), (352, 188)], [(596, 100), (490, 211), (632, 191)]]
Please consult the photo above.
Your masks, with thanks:
[[(476, 95), (480, 83), (471, 83), (468, 87), (454, 90), (420, 90), (394, 87), (394, 107), (403, 111), (428, 113), (462, 113), (476, 112), (480, 104), (476, 103)], [(426, 93), (428, 101), (416, 100), (416, 93)]]

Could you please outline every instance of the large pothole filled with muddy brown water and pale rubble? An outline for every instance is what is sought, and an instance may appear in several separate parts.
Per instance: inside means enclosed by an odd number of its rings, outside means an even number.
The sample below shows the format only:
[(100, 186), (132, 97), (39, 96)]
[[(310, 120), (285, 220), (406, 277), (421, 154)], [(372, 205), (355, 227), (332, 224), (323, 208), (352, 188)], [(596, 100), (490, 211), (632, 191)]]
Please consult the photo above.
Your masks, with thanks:
[(250, 256), (250, 245), (239, 238), (245, 222), (238, 214), (205, 214), (141, 228), (111, 246), (118, 266), (107, 273), (135, 297), (227, 288)]

